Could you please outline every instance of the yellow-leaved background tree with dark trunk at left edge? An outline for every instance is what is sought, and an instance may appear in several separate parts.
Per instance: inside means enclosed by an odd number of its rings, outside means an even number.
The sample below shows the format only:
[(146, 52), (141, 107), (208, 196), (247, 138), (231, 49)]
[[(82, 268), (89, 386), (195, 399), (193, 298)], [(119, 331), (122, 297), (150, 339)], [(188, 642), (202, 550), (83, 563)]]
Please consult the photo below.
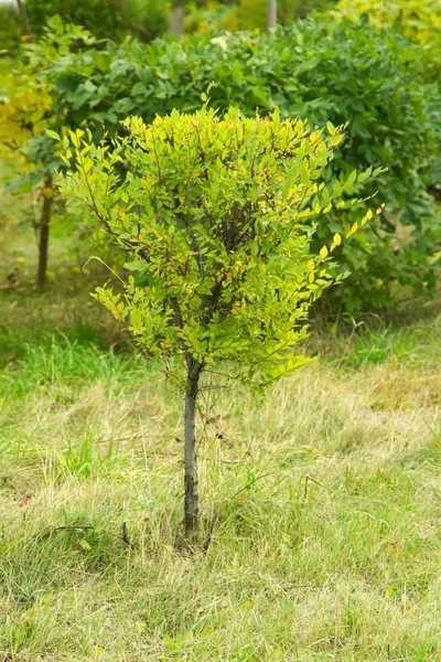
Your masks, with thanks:
[(45, 130), (60, 130), (65, 116), (63, 107), (56, 109), (53, 105), (53, 84), (46, 71), (53, 60), (94, 42), (89, 32), (63, 25), (60, 18), (53, 18), (42, 40), (24, 47), (26, 63), (18, 62), (0, 84), (0, 156), (10, 164), (4, 175), (7, 190), (33, 191), (35, 205), (40, 206), (40, 214), (33, 221), (39, 246), (35, 279), (39, 289), (45, 286), (51, 221), (54, 207), (61, 202), (53, 186), (53, 173), (61, 161)]

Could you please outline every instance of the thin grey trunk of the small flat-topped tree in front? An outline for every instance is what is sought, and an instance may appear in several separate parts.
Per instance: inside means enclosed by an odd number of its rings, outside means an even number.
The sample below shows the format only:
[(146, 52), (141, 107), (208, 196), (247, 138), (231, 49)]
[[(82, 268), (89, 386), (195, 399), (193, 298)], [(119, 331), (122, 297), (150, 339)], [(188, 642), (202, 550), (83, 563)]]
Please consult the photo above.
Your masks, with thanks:
[(185, 392), (185, 533), (192, 535), (198, 527), (200, 495), (197, 490), (196, 465), (196, 398), (202, 365), (187, 357), (187, 387)]

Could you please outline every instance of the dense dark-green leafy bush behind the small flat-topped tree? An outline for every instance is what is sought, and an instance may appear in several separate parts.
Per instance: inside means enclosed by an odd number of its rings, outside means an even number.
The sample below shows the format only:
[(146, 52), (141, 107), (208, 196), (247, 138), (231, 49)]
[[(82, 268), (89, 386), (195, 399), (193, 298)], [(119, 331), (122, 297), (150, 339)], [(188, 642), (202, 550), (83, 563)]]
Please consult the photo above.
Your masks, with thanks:
[[(256, 107), (266, 114), (276, 104), (283, 117), (319, 126), (348, 120), (324, 179), (378, 166), (388, 171), (358, 191), (377, 192), (386, 207), (356, 245), (342, 248), (344, 268), (353, 271), (340, 289), (343, 306), (391, 306), (396, 284), (434, 290), (439, 224), (424, 167), (438, 153), (440, 97), (423, 81), (419, 47), (399, 34), (322, 18), (299, 21), (288, 34), (280, 30), (271, 42), (259, 33), (160, 39), (147, 46), (108, 42), (105, 51), (55, 62), (51, 76), (67, 124), (87, 122), (97, 135), (103, 125), (120, 132), (118, 122), (128, 114), (151, 121), (173, 108), (193, 111), (212, 81), (215, 108), (236, 104), (251, 116)], [(323, 218), (320, 242), (344, 232), (353, 213)]]

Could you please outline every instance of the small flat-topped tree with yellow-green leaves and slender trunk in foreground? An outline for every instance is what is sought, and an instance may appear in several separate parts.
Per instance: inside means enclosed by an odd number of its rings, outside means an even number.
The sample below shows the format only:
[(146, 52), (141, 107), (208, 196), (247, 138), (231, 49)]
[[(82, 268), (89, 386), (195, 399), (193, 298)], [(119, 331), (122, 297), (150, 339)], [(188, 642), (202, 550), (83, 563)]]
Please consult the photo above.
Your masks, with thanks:
[(122, 293), (104, 287), (96, 297), (147, 355), (163, 361), (185, 396), (184, 519), (192, 534), (201, 377), (225, 363), (257, 388), (309, 361), (295, 348), (308, 334), (312, 301), (335, 282), (329, 253), (342, 241), (335, 235), (330, 249), (312, 255), (314, 218), (344, 204), (354, 177), (321, 183), (341, 131), (329, 125), (324, 136), (277, 111), (249, 119), (232, 108), (219, 118), (204, 107), (151, 126), (139, 118), (123, 125), (128, 137), (112, 149), (95, 146), (89, 132), (71, 134), (71, 146), (65, 137), (72, 170), (60, 185), (99, 221), (136, 275)]

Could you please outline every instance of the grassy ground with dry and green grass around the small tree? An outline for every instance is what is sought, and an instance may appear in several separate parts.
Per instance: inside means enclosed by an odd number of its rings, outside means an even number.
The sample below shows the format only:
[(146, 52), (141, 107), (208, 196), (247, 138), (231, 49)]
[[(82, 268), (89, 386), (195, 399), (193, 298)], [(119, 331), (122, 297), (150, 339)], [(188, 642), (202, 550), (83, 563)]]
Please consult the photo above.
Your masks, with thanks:
[(399, 327), (314, 325), (319, 360), (265, 401), (204, 398), (191, 549), (182, 398), (88, 296), (101, 271), (55, 239), (36, 293), (25, 217), (8, 227), (0, 660), (441, 660), (435, 305)]

